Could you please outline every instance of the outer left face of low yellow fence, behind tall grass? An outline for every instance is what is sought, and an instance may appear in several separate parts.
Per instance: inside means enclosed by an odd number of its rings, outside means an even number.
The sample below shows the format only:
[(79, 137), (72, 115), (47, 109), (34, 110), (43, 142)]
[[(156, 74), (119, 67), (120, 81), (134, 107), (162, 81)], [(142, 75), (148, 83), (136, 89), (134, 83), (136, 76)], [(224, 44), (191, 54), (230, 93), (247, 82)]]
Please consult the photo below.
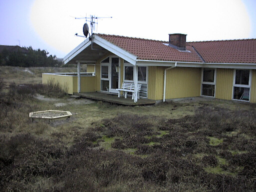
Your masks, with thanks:
[(66, 93), (73, 93), (72, 76), (42, 74), (42, 83), (58, 85)]

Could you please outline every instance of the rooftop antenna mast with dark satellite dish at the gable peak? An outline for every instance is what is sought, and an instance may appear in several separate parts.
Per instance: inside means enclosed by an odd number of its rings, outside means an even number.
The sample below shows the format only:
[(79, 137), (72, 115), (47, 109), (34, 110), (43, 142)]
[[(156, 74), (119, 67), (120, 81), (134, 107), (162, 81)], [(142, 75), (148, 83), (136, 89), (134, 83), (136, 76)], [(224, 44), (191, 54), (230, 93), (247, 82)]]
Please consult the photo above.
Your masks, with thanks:
[[(95, 25), (97, 26), (97, 24), (98, 24), (98, 19), (112, 18), (112, 17), (111, 16), (98, 17), (98, 16), (95, 16), (95, 15), (90, 15), (89, 17), (85, 16), (85, 17), (74, 17), (74, 18), (75, 19), (85, 19), (85, 23), (83, 24), (83, 27), (82, 27), (82, 32), (83, 32), (85, 37), (87, 37), (87, 35), (89, 34), (89, 38), (90, 38), (90, 34), (92, 34), (92, 31), (95, 30)], [(87, 22), (90, 23), (91, 33), (89, 33), (89, 26), (88, 26)], [(84, 37), (82, 35), (78, 35), (77, 33), (75, 33), (75, 35)]]

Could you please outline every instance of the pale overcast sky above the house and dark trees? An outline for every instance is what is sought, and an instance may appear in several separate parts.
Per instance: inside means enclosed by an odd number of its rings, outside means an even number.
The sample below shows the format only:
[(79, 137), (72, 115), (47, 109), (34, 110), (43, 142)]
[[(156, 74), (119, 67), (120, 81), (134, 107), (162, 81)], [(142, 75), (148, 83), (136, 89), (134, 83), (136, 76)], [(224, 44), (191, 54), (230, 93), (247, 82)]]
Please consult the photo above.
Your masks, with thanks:
[[(84, 17), (96, 33), (187, 41), (256, 38), (256, 0), (0, 0), (0, 44), (32, 46), (63, 57), (85, 38)], [(87, 22), (89, 24), (89, 22)]]

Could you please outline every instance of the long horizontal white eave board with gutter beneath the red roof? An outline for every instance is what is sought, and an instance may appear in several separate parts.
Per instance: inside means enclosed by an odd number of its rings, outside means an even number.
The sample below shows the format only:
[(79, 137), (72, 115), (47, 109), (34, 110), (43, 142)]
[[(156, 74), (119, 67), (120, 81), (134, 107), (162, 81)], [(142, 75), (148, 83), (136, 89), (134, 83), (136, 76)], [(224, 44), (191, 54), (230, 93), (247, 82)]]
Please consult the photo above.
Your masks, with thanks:
[(205, 67), (205, 68), (240, 68), (256, 69), (256, 63), (214, 63), (214, 62), (182, 62), (182, 61), (162, 61), (162, 60), (141, 60), (137, 59), (136, 65), (140, 66), (171, 66), (177, 62), (179, 67)]

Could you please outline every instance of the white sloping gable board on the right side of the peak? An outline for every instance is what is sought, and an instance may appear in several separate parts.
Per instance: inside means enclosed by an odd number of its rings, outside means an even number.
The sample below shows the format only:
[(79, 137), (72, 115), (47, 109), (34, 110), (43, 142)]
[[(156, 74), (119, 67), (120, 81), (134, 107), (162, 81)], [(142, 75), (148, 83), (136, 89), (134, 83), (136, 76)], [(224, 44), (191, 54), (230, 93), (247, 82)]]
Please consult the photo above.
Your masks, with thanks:
[(115, 55), (127, 60), (129, 63), (135, 65), (137, 56), (127, 52), (126, 50), (110, 43), (109, 41), (99, 37), (98, 35), (94, 34), (92, 37), (92, 42), (98, 44), (99, 46), (109, 50), (110, 52), (114, 53)]

